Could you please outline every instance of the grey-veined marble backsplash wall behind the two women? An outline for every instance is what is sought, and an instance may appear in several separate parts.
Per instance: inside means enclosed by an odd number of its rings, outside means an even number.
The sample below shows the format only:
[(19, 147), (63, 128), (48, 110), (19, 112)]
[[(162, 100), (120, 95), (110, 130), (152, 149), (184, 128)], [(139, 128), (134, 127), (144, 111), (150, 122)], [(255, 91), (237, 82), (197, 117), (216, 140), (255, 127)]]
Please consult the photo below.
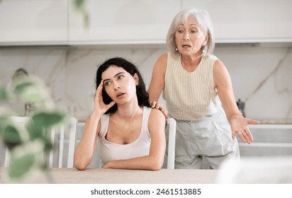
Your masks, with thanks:
[[(79, 121), (91, 113), (99, 64), (124, 57), (137, 65), (147, 86), (164, 46), (0, 47), (0, 83), (9, 86), (18, 68), (43, 78), (52, 98)], [(228, 68), (235, 98), (245, 115), (258, 120), (292, 119), (292, 50), (284, 45), (218, 45), (215, 53)], [(164, 100), (160, 99), (161, 103)], [(23, 115), (24, 107), (15, 106)]]

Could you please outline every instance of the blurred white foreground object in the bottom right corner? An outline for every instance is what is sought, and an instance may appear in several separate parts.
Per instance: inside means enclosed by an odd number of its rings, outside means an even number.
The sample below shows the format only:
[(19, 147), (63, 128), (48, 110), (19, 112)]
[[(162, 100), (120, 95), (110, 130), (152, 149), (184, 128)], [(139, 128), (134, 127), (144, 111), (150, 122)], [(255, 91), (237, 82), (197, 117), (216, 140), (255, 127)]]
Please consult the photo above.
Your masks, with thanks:
[(224, 161), (217, 183), (285, 184), (292, 183), (292, 156), (248, 157)]

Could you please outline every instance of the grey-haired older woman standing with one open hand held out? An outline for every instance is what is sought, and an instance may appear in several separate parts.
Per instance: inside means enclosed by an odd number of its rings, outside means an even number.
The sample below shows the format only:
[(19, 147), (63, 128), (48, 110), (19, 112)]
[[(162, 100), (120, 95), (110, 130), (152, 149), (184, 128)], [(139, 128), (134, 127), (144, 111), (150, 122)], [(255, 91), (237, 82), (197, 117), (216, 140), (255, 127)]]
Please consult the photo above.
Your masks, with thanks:
[[(240, 158), (235, 134), (250, 144), (248, 124), (236, 105), (230, 75), (212, 53), (213, 25), (207, 11), (189, 8), (178, 13), (167, 34), (167, 54), (152, 71), (148, 89), (152, 107), (176, 120), (175, 168), (202, 168), (206, 158), (217, 169), (225, 158)], [(160, 94), (167, 103), (157, 103)]]

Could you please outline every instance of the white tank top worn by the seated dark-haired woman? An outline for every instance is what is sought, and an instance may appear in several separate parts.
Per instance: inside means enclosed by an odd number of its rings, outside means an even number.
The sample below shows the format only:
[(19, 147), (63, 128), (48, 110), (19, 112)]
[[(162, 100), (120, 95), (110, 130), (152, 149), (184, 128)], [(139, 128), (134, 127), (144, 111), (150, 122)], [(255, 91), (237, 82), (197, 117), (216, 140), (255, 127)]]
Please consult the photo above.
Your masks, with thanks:
[(101, 132), (99, 132), (100, 168), (108, 161), (149, 155), (151, 136), (148, 130), (148, 119), (150, 112), (151, 108), (143, 107), (140, 136), (130, 144), (116, 144), (107, 141), (109, 114), (101, 116)]

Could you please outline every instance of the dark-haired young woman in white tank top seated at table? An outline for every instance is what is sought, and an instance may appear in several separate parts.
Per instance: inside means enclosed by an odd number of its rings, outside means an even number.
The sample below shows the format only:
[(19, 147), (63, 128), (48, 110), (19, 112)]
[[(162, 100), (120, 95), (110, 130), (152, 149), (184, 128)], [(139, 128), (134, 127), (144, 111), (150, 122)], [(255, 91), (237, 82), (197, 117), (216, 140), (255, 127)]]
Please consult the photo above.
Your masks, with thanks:
[(96, 72), (94, 110), (74, 153), (75, 168), (87, 168), (98, 141), (101, 168), (160, 170), (164, 127), (165, 117), (150, 108), (137, 67), (120, 57), (108, 59)]

